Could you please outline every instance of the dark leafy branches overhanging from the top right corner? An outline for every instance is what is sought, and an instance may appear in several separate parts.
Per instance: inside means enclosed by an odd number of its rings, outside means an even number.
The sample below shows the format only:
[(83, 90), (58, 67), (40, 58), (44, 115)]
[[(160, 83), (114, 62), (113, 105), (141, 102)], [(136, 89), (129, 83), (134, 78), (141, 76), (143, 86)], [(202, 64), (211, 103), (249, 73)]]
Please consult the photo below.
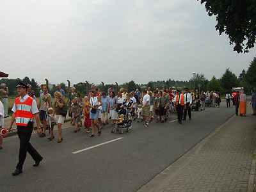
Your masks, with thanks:
[(209, 16), (216, 16), (216, 31), (226, 33), (234, 51), (248, 52), (256, 38), (255, 0), (197, 0), (205, 3)]

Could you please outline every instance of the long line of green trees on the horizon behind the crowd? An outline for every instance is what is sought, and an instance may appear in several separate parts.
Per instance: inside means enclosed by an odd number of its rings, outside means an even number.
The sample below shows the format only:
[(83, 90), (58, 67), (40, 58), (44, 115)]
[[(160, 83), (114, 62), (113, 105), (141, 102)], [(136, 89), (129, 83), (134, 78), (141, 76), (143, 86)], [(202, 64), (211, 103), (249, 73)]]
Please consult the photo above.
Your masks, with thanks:
[[(22, 79), (24, 83), (31, 84), (32, 90), (35, 91), (36, 96), (39, 96), (40, 85), (35, 81), (34, 78), (29, 79), (29, 77), (24, 77)], [(9, 88), (10, 95), (16, 95), (16, 84), (17, 79), (1, 79), (0, 83), (6, 83)], [(65, 83), (60, 83), (63, 90), (68, 89)], [(189, 81), (175, 81), (173, 79), (167, 79), (166, 81), (149, 81), (147, 84), (137, 84), (135, 81), (129, 81), (124, 84), (94, 84), (94, 83), (77, 83), (74, 84), (77, 92), (81, 95), (86, 95), (88, 91), (97, 87), (104, 92), (108, 92), (110, 87), (113, 87), (114, 90), (119, 90), (121, 87), (126, 88), (128, 92), (132, 92), (136, 89), (142, 90), (143, 88), (190, 88), (196, 90), (207, 90), (216, 91), (220, 93), (231, 92), (233, 87), (243, 86), (246, 93), (250, 93), (253, 89), (256, 88), (256, 57), (253, 58), (253, 61), (250, 63), (248, 70), (242, 70), (241, 74), (237, 77), (229, 68), (227, 68), (224, 74), (218, 79), (213, 76), (210, 80), (205, 78), (204, 74), (195, 74)], [(50, 87), (50, 86), (49, 86)], [(50, 93), (56, 92), (56, 84), (51, 84), (49, 89)]]

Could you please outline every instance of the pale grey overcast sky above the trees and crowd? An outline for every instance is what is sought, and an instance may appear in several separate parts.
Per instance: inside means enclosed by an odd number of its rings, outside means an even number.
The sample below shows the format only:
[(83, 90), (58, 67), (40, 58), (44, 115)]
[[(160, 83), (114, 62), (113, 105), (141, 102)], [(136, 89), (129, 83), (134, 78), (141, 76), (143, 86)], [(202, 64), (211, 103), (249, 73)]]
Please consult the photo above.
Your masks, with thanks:
[(3, 0), (0, 65), (42, 83), (147, 83), (247, 69), (196, 0)]

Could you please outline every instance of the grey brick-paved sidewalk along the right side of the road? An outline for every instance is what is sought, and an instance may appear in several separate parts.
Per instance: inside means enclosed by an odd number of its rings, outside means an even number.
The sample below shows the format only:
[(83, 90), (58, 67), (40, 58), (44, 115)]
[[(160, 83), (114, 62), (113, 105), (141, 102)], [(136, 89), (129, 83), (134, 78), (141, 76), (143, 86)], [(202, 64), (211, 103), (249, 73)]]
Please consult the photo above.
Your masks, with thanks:
[(256, 118), (232, 116), (138, 192), (253, 191)]

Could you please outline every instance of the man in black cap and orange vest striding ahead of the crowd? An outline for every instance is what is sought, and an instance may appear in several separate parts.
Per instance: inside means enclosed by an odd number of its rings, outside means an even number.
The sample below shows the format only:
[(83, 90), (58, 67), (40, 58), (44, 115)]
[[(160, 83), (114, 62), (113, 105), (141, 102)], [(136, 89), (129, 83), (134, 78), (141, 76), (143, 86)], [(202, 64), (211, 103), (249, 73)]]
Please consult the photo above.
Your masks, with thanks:
[(28, 86), (25, 83), (19, 81), (17, 85), (17, 92), (20, 97), (17, 97), (13, 104), (13, 115), (8, 128), (9, 131), (11, 131), (13, 123), (16, 122), (17, 133), (20, 140), (19, 163), (16, 166), (15, 172), (12, 173), (13, 176), (17, 176), (22, 173), (22, 167), (26, 159), (27, 152), (35, 161), (33, 166), (38, 166), (43, 159), (31, 143), (29, 143), (33, 131), (33, 118), (36, 120), (38, 128), (37, 131), (39, 133), (41, 133), (41, 125), (36, 101), (29, 97), (27, 94), (27, 88)]

